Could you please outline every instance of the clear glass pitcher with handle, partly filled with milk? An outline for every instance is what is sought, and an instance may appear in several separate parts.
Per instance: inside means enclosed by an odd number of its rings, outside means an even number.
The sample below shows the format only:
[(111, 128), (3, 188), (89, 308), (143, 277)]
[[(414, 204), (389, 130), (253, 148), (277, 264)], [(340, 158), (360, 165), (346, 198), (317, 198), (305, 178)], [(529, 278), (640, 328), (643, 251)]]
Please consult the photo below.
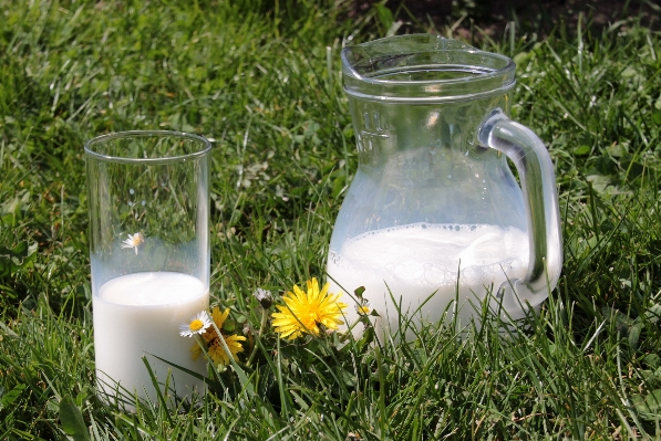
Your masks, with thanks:
[(558, 196), (544, 144), (507, 117), (514, 62), (420, 34), (345, 48), (342, 65), (359, 167), (327, 271), (348, 324), (359, 286), (381, 332), (400, 313), (467, 325), (538, 307), (562, 264)]

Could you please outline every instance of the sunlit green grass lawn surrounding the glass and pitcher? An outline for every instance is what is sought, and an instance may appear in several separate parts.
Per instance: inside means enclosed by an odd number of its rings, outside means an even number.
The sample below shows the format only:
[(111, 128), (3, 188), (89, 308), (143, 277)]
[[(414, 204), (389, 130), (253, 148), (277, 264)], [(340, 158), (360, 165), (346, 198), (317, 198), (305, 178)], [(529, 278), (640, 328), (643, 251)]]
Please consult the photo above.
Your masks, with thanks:
[(214, 139), (211, 295), (236, 318), (258, 327), (258, 286), (323, 276), (357, 168), (339, 53), (388, 22), (268, 3), (0, 0), (0, 439), (66, 439), (65, 397), (94, 439), (661, 439), (661, 38), (637, 18), (483, 43), (517, 61), (513, 117), (548, 144), (560, 192), (562, 277), (528, 330), (269, 335), (248, 380), (227, 369), (198, 408), (99, 401), (90, 137)]

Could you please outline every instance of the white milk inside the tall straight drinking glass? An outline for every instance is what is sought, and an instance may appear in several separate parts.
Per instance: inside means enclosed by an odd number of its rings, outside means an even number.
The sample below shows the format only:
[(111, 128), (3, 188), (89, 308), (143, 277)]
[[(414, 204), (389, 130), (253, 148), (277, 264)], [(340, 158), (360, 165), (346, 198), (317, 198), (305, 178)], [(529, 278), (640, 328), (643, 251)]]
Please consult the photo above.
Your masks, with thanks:
[[(123, 275), (104, 283), (92, 296), (96, 378), (106, 393), (114, 396), (115, 382), (152, 400), (152, 379), (142, 356), (146, 355), (159, 384), (171, 369), (171, 387), (178, 396), (190, 396), (193, 388), (204, 392), (203, 382), (149, 354), (206, 374), (204, 357), (190, 358), (194, 338), (182, 337), (178, 327), (208, 306), (209, 292), (199, 279), (172, 272)], [(121, 389), (122, 390), (122, 389)], [(162, 389), (163, 390), (163, 389)]]

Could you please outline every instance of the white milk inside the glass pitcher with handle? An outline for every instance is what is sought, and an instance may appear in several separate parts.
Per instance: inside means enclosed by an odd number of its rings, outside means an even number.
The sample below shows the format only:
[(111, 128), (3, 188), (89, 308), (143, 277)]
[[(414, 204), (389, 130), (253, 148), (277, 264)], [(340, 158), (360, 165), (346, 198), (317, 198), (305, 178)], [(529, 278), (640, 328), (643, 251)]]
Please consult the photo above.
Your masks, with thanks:
[[(339, 253), (331, 252), (327, 271), (352, 295), (364, 286), (363, 296), (381, 315), (378, 328), (389, 323), (393, 330), (399, 319), (389, 287), (397, 303), (401, 300), (402, 313), (414, 317), (416, 326), (421, 321), (438, 322), (446, 308), (448, 322), (455, 307), (459, 325), (465, 326), (475, 314), (471, 303), (481, 308), (487, 292), (495, 295), (508, 277), (524, 277), (527, 266), (528, 235), (518, 229), (415, 223), (347, 241)], [(341, 292), (330, 277), (330, 291)], [(345, 311), (351, 324), (358, 318), (355, 302), (347, 294), (343, 301), (349, 305)], [(513, 313), (521, 315), (520, 311)], [(379, 330), (381, 335), (383, 329)], [(413, 335), (407, 332), (406, 338)]]

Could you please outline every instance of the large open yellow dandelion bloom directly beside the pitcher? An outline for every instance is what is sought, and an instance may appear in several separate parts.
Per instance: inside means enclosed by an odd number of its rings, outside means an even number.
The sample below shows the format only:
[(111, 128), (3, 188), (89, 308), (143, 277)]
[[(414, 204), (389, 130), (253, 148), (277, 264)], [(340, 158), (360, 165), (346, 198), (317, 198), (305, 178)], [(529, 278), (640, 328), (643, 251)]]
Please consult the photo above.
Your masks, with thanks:
[(304, 293), (297, 285), (293, 285), (293, 293), (288, 291), (282, 300), (286, 306), (278, 305), (278, 313), (273, 313), (273, 327), (282, 337), (292, 340), (300, 337), (302, 333), (319, 335), (319, 324), (328, 329), (337, 330), (342, 325), (342, 309), (345, 303), (338, 302), (341, 293), (331, 294), (328, 292), (329, 283), (319, 291), (317, 277), (306, 282), (308, 292)]

